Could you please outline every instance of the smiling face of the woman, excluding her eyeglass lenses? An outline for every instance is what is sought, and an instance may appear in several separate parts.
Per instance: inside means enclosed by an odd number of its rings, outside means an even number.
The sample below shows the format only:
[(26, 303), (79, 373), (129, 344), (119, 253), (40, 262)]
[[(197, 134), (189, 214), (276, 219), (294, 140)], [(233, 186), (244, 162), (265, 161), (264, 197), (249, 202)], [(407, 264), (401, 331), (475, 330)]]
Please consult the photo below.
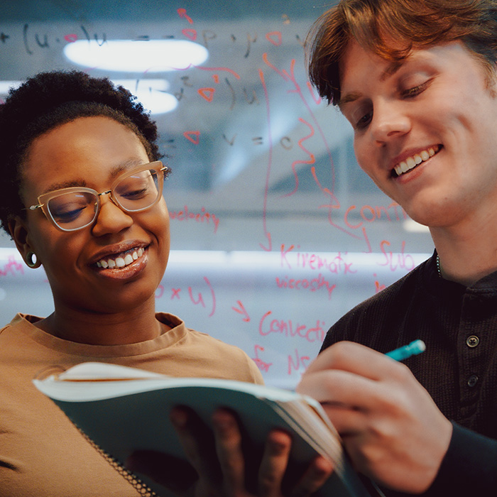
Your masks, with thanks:
[[(123, 124), (104, 116), (75, 119), (31, 144), (23, 164), (23, 202), (29, 207), (38, 195), (70, 186), (104, 192), (123, 171), (148, 162), (140, 139)], [(41, 209), (28, 210), (26, 222), (16, 222), (17, 246), (23, 255), (33, 251), (43, 264), (55, 310), (107, 314), (155, 299), (169, 256), (164, 199), (136, 213), (122, 211), (109, 195), (100, 199), (97, 219), (78, 231), (60, 231)], [(109, 260), (119, 257), (127, 265), (110, 267)]]

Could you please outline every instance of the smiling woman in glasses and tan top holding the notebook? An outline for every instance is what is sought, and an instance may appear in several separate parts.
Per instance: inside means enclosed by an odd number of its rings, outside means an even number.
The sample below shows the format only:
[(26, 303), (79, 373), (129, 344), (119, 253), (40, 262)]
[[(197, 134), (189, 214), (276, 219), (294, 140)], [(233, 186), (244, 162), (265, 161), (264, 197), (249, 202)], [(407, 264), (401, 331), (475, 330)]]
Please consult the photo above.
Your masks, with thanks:
[[(129, 92), (82, 72), (43, 73), (11, 92), (0, 130), (1, 223), (27, 265), (43, 265), (54, 301), (49, 316), (18, 314), (0, 329), (0, 493), (146, 495), (35, 390), (33, 378), (83, 361), (256, 383), (261, 374), (243, 351), (155, 312), (170, 245), (162, 196), (169, 170), (155, 124)], [(173, 419), (181, 431), (185, 413)], [(223, 411), (213, 423), (217, 446), (198, 457), (190, 451), (190, 477), (162, 469), (175, 488), (222, 496), (232, 481), (237, 491), (243, 485), (243, 465), (213, 464), (242, 454), (238, 426)], [(266, 481), (276, 472), (273, 492), (289, 447), (283, 432), (268, 437), (259, 474)], [(202, 457), (209, 464), (197, 464)]]

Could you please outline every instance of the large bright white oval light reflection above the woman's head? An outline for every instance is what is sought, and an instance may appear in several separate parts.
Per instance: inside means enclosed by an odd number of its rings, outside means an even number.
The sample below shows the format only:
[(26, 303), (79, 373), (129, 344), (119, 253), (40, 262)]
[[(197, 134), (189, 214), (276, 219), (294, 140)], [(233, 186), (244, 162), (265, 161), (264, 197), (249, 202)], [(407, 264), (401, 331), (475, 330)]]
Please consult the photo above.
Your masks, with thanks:
[(209, 53), (188, 40), (76, 40), (64, 47), (65, 56), (78, 65), (121, 72), (163, 72), (200, 65)]

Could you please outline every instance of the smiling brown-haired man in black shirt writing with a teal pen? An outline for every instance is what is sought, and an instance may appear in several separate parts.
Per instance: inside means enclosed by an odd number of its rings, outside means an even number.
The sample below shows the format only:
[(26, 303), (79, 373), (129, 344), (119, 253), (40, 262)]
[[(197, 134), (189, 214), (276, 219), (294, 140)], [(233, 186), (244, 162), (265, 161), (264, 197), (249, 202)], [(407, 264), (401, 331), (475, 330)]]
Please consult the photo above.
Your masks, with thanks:
[[(310, 50), (359, 165), (436, 251), (334, 324), (297, 390), (386, 494), (493, 496), (497, 1), (342, 0)], [(405, 364), (383, 355), (414, 339), (427, 349)]]

